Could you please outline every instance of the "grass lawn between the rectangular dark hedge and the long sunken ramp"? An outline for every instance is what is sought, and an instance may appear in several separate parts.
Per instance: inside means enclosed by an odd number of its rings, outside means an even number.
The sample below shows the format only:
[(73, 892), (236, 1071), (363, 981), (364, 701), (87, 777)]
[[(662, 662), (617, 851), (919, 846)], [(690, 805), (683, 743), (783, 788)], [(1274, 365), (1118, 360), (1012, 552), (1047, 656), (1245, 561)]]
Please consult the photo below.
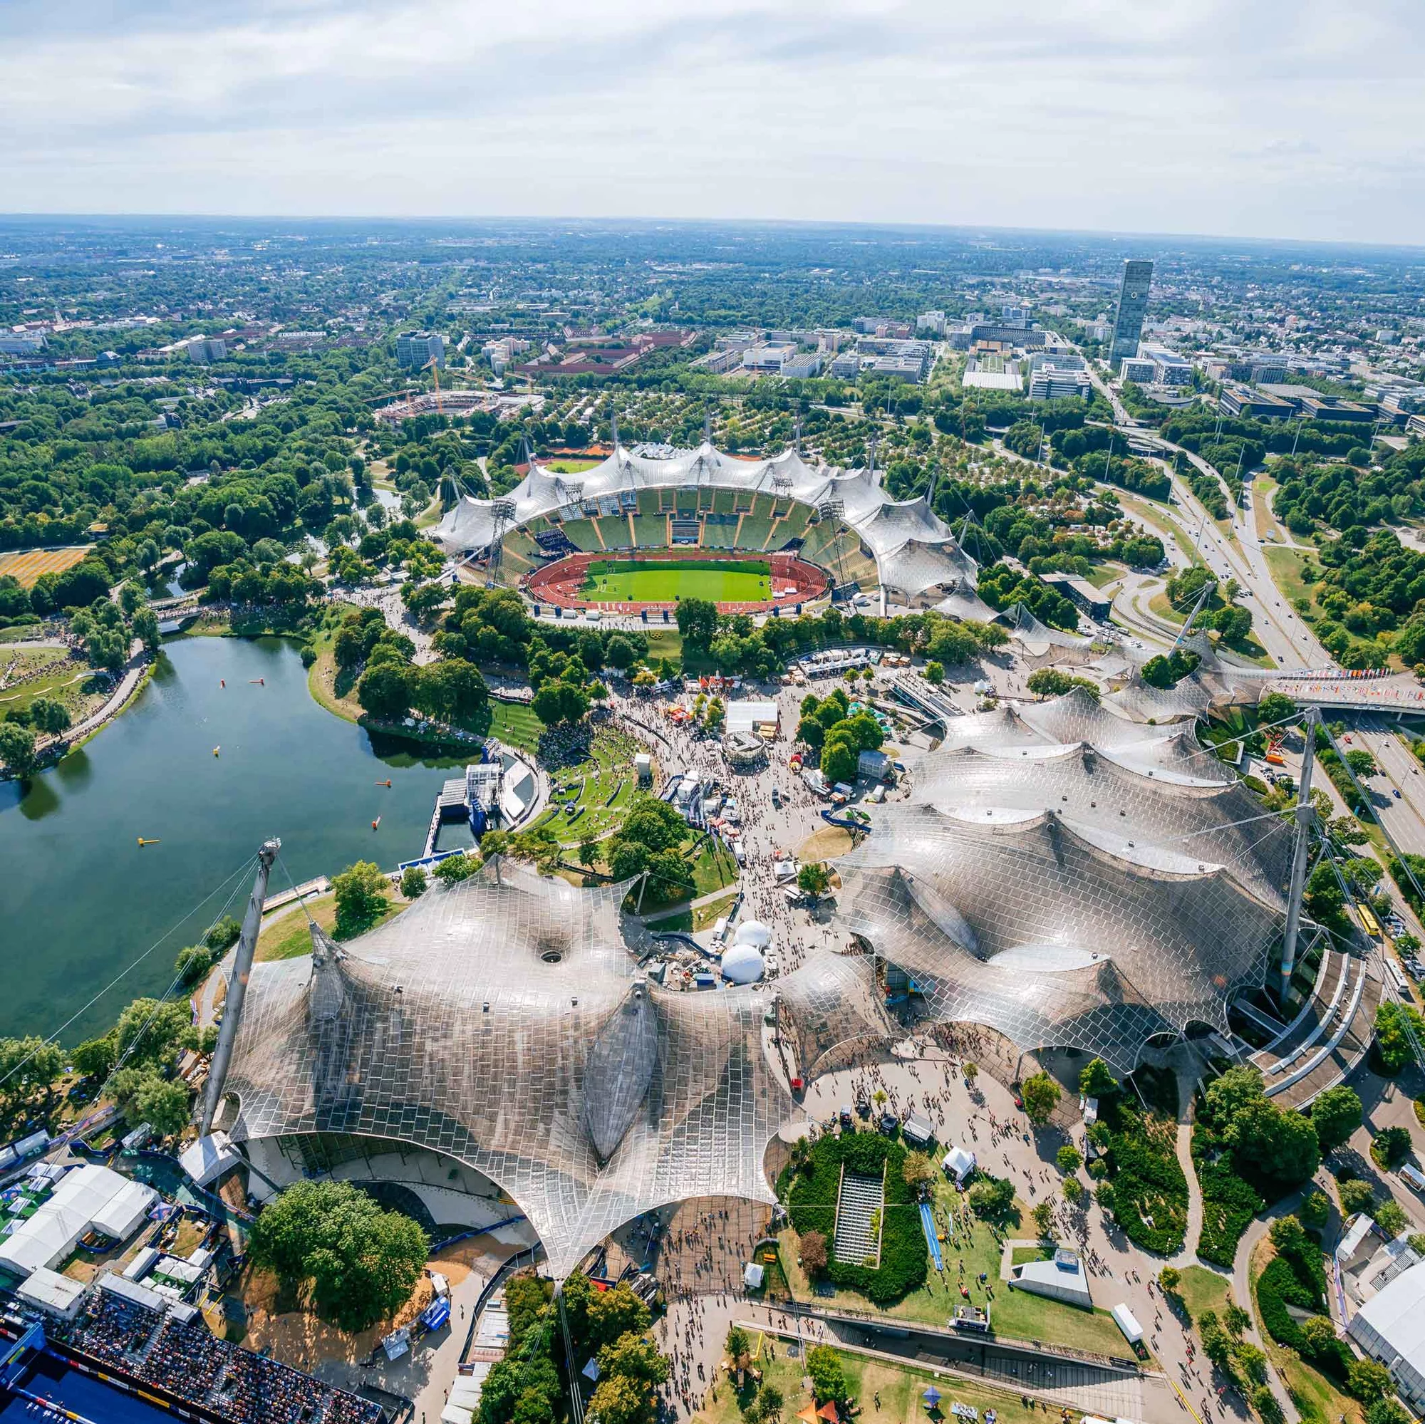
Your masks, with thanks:
[[(1107, 1310), (1079, 1310), (1076, 1306), (1062, 1300), (1049, 1300), (1045, 1296), (1032, 1296), (1025, 1290), (1009, 1290), (999, 1279), (1000, 1242), (995, 1239), (990, 1227), (975, 1218), (966, 1232), (959, 1222), (956, 1232), (946, 1232), (945, 1213), (948, 1208), (959, 1208), (960, 1193), (946, 1180), (936, 1182), (935, 1215), (945, 1237), (940, 1252), (945, 1257), (945, 1274), (936, 1276), (932, 1266), (926, 1284), (911, 1292), (884, 1314), (903, 1317), (906, 1320), (923, 1320), (931, 1324), (943, 1326), (952, 1309), (962, 1303), (959, 1293), (959, 1263), (965, 1262), (965, 1284), (969, 1289), (969, 1304), (985, 1306), (990, 1303), (990, 1312), (998, 1334), (1017, 1340), (1042, 1340), (1046, 1344), (1060, 1344), (1069, 1349), (1089, 1350), (1094, 1354), (1124, 1353), (1123, 1333), (1113, 1323)], [(1029, 1209), (1023, 1202), (1016, 1203), (1022, 1218), (1029, 1220)], [(1033, 1227), (1030, 1227), (1032, 1230)], [(1010, 1236), (1023, 1235), (1022, 1227), (1010, 1227)], [(832, 1296), (821, 1296), (812, 1292), (805, 1273), (798, 1265), (797, 1233), (787, 1227), (781, 1233), (781, 1259), (791, 1283), (792, 1294), (798, 1300), (812, 1302), (817, 1306), (835, 1309), (849, 1306), (856, 1310), (866, 1309), (866, 1299), (852, 1290), (836, 1290)], [(979, 1283), (979, 1274), (988, 1276), (986, 1286)], [(990, 1294), (993, 1292), (993, 1294)]]

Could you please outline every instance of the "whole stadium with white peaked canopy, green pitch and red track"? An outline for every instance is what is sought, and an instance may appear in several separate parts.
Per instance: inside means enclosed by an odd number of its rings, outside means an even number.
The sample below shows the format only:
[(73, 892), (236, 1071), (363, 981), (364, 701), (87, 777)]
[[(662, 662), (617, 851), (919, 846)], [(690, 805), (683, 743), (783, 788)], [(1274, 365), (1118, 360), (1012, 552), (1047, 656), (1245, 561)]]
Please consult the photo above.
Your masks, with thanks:
[(704, 443), (661, 460), (617, 446), (591, 470), (539, 464), (507, 496), (465, 497), (436, 540), (556, 608), (636, 612), (711, 598), (724, 612), (858, 591), (928, 607), (975, 585), (975, 562), (925, 498), (875, 470), (742, 460)]

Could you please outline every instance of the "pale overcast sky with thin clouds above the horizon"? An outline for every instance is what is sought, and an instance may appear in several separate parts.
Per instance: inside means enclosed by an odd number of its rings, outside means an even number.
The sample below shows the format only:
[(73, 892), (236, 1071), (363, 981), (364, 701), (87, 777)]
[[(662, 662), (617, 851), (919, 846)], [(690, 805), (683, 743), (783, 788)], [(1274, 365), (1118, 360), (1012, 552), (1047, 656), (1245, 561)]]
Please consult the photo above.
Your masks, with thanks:
[(1425, 244), (1421, 0), (3, 0), (11, 212)]

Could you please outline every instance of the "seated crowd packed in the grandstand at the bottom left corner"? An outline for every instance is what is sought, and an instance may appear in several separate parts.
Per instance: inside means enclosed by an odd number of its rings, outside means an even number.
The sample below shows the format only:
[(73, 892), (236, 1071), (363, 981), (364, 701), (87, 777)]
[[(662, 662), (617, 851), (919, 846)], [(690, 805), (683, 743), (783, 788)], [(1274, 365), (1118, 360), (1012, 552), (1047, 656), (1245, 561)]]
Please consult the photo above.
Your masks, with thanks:
[(232, 1424), (380, 1424), (383, 1417), (379, 1404), (218, 1340), (201, 1323), (182, 1324), (103, 1292), (58, 1337)]

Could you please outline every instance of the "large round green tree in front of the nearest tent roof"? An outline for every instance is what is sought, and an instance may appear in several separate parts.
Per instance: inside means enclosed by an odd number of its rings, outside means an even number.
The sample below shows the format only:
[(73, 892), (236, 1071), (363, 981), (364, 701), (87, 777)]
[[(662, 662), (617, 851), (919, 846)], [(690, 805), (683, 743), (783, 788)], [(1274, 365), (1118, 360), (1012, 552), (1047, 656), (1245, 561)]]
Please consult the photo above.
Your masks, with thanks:
[(248, 1250), (288, 1289), (309, 1286), (323, 1319), (365, 1330), (410, 1297), (429, 1242), (349, 1182), (296, 1182), (256, 1219)]

